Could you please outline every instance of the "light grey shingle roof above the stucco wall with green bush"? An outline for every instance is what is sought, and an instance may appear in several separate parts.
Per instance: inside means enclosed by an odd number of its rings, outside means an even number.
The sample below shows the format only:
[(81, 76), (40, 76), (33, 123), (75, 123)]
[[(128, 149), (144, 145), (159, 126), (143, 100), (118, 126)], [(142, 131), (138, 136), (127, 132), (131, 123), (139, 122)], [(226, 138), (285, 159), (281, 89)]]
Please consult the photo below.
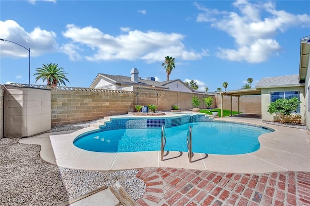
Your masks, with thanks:
[(262, 78), (255, 88), (273, 88), (273, 87), (291, 87), (302, 86), (304, 84), (299, 83), (298, 74), (275, 76)]

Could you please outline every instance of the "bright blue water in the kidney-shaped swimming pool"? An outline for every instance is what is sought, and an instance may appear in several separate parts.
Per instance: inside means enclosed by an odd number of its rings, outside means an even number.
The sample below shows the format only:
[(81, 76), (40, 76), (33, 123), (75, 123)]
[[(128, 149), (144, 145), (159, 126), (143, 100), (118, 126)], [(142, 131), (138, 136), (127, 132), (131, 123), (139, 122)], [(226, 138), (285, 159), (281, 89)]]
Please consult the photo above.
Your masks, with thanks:
[[(258, 137), (272, 132), (262, 127), (225, 122), (192, 122), (165, 129), (165, 151), (187, 152), (186, 135), (192, 127), (192, 151), (206, 154), (245, 154), (260, 148)], [(118, 129), (76, 138), (74, 145), (97, 152), (158, 151), (161, 128)]]

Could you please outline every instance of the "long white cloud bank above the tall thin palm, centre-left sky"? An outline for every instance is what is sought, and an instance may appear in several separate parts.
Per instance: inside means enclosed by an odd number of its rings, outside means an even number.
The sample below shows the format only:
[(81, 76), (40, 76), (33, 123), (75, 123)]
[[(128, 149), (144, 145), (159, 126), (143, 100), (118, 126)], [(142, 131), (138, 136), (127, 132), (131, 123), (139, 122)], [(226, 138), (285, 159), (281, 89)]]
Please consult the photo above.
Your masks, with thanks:
[[(67, 25), (62, 34), (72, 40), (70, 44), (79, 45), (78, 48), (83, 45), (92, 48), (93, 56), (83, 55), (89, 61), (143, 59), (154, 62), (162, 61), (168, 54), (175, 59), (195, 60), (208, 55), (206, 49), (202, 52), (187, 50), (182, 43), (185, 36), (179, 33), (130, 30), (126, 34), (111, 36), (91, 26)], [(77, 50), (72, 52), (78, 53)]]

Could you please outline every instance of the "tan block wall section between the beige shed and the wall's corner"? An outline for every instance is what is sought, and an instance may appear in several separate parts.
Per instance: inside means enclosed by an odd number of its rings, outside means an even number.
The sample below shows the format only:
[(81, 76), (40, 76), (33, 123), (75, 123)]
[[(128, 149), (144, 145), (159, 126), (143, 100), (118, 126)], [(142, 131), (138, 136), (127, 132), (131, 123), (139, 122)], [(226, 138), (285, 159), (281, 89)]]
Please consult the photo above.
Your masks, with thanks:
[(61, 126), (133, 112), (133, 92), (52, 90), (51, 126)]

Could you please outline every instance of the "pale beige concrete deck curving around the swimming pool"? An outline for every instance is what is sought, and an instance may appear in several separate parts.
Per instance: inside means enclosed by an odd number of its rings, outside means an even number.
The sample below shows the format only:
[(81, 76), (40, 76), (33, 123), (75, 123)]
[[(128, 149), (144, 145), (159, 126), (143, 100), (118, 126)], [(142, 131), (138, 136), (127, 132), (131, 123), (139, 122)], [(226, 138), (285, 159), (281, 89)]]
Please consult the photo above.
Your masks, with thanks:
[[(167, 112), (165, 117), (171, 116), (175, 116), (175, 113)], [(122, 117), (124, 116), (111, 116), (109, 118)], [(130, 116), (126, 115), (126, 117)], [(155, 118), (155, 116), (151, 118)], [(73, 140), (78, 135), (91, 132), (96, 128), (44, 133), (22, 138), (19, 142), (40, 145), (40, 156), (46, 162), (61, 167), (91, 171), (175, 167), (232, 173), (264, 173), (291, 170), (310, 172), (310, 135), (307, 130), (270, 125), (263, 123), (261, 119), (253, 118), (225, 117), (215, 118), (215, 121), (254, 124), (271, 128), (275, 132), (261, 135), (259, 137), (261, 147), (255, 152), (241, 155), (194, 153), (191, 163), (188, 162), (186, 152), (165, 151), (164, 161), (160, 161), (160, 151), (104, 153), (86, 151), (73, 145)]]

